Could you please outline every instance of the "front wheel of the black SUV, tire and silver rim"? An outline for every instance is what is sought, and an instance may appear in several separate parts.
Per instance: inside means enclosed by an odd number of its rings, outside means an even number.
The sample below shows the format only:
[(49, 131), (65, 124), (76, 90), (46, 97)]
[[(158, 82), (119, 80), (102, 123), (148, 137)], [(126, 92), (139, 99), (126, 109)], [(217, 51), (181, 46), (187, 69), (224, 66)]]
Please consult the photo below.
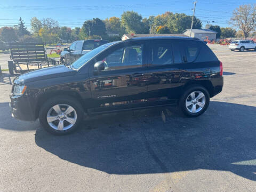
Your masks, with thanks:
[[(71, 112), (65, 114), (68, 108)], [(81, 103), (75, 98), (69, 96), (54, 97), (47, 100), (41, 107), (39, 121), (47, 132), (55, 135), (64, 135), (77, 129), (83, 119), (83, 115), (84, 110), (81, 107)]]

